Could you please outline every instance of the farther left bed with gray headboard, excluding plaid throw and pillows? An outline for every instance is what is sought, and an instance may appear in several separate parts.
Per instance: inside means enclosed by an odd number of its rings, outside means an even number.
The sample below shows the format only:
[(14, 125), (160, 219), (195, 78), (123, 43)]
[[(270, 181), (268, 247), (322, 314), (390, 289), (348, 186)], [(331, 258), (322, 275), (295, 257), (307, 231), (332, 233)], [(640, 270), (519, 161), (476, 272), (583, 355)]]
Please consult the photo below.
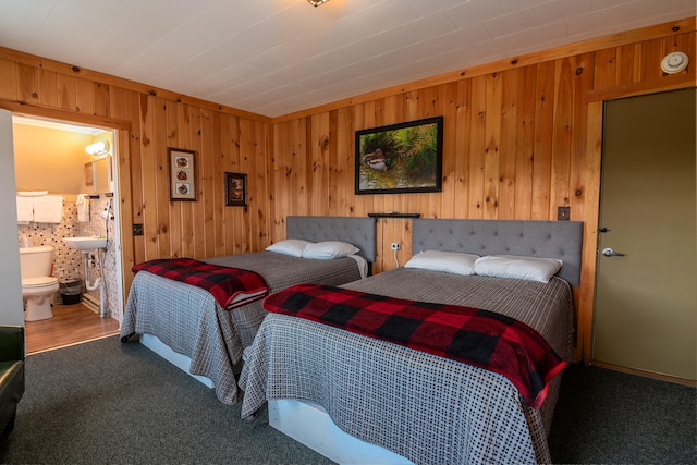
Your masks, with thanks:
[[(305, 282), (339, 285), (359, 280), (375, 261), (375, 234), (371, 218), (289, 217), (291, 241), (278, 244), (342, 242), (357, 247), (358, 257), (307, 259), (260, 252), (201, 261), (254, 271), (264, 278), (270, 293)], [(252, 344), (266, 314), (261, 301), (228, 310), (204, 289), (139, 271), (129, 293), (121, 340), (137, 334), (140, 343), (213, 388), (221, 402), (233, 404), (243, 350)]]

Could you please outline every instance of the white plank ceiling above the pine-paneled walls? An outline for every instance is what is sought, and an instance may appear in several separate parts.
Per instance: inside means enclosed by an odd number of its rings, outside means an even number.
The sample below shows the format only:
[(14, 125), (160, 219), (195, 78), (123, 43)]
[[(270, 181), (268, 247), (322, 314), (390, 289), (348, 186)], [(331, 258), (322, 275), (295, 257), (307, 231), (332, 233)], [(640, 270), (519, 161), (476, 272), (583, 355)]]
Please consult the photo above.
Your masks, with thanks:
[(0, 2), (0, 46), (266, 117), (695, 15), (694, 0)]

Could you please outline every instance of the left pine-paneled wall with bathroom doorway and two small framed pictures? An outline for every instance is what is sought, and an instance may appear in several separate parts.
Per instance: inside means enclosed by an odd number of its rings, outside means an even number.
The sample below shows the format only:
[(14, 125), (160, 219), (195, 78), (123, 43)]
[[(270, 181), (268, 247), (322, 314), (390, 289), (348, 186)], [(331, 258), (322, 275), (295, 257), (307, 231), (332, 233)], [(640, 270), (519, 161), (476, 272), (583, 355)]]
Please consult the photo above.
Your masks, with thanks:
[[(0, 108), (120, 132), (126, 292), (131, 267), (144, 260), (268, 245), (270, 119), (2, 48)], [(197, 201), (170, 201), (168, 147), (196, 151)], [(247, 208), (225, 207), (225, 171), (248, 174)]]

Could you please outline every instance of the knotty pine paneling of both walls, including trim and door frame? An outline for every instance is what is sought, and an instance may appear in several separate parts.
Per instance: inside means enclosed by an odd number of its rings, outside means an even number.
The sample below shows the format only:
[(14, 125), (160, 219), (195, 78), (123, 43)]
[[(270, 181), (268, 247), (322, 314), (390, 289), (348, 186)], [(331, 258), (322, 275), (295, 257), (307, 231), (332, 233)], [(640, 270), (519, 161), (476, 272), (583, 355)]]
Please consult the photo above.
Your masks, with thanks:
[[(602, 101), (696, 86), (695, 19), (462, 70), (268, 119), (0, 48), (0, 108), (119, 130), (125, 289), (156, 257), (256, 252), (288, 215), (418, 212), (425, 218), (585, 222), (576, 358), (588, 360)], [(664, 75), (683, 51), (687, 71)], [(356, 130), (443, 115), (443, 191), (354, 194)], [(197, 152), (198, 200), (170, 201), (167, 148)], [(225, 207), (223, 173), (248, 174), (248, 208)], [(144, 235), (134, 236), (134, 223)], [(381, 219), (377, 272), (411, 256), (411, 220)]]

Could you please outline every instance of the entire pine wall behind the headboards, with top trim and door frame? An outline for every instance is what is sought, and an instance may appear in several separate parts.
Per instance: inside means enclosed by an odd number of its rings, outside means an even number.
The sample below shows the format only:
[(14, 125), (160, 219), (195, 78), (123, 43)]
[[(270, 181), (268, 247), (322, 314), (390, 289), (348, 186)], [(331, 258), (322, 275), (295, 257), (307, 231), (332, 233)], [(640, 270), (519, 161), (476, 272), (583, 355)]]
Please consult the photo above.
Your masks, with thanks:
[[(662, 57), (696, 56), (695, 19), (438, 76), (277, 119), (272, 237), (286, 215), (420, 213), (423, 218), (555, 220), (558, 207), (584, 221), (582, 285), (575, 290), (578, 344), (590, 357), (602, 101), (692, 87), (695, 65), (676, 75)], [(443, 189), (355, 195), (354, 133), (444, 117)], [(412, 255), (412, 221), (380, 219), (375, 271)], [(398, 260), (391, 243), (402, 249)]]

